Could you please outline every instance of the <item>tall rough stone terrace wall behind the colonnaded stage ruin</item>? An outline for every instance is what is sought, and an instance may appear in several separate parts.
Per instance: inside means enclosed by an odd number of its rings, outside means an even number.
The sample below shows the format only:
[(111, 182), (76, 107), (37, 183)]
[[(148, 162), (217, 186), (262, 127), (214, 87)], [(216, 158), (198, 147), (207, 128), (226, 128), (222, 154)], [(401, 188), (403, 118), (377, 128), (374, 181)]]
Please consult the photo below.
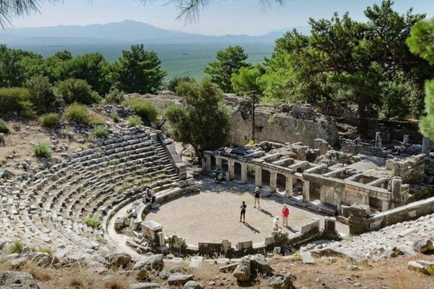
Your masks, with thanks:
[[(252, 104), (240, 103), (232, 113), (229, 142), (245, 145), (252, 139)], [(317, 113), (309, 105), (258, 105), (255, 109), (255, 142), (303, 142), (313, 147), (321, 138), (335, 145), (338, 129), (332, 118)]]

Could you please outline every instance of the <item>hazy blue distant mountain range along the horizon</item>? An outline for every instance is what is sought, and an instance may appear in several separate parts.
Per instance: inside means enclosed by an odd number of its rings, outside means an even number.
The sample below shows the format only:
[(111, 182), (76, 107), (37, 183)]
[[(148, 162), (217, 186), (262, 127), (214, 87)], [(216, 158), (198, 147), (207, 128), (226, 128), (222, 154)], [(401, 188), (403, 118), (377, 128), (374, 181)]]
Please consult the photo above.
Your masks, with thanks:
[[(89, 44), (194, 44), (194, 43), (272, 43), (288, 29), (271, 31), (262, 36), (224, 35), (209, 36), (166, 30), (152, 25), (124, 20), (119, 23), (92, 24), (86, 26), (68, 25), (36, 28), (7, 28), (0, 30), (0, 43), (10, 46), (50, 46)], [(296, 27), (308, 34), (310, 27)]]

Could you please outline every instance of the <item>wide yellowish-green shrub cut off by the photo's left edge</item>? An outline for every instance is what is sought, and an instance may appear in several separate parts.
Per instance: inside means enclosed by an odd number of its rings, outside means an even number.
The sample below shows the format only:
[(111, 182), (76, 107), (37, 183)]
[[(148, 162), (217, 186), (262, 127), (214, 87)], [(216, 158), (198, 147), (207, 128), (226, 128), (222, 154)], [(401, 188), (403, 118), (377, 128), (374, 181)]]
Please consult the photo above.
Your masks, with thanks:
[(24, 117), (34, 115), (31, 95), (27, 88), (0, 88), (0, 113), (19, 113)]

